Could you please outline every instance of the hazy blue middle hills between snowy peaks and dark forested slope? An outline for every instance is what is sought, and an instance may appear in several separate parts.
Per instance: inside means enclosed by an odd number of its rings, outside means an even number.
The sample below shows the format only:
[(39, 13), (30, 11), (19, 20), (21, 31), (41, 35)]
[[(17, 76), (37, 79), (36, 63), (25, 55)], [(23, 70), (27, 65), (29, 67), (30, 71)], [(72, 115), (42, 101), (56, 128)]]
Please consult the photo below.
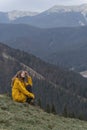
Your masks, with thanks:
[(87, 70), (87, 26), (40, 29), (24, 24), (0, 24), (0, 41), (52, 64), (75, 71)]

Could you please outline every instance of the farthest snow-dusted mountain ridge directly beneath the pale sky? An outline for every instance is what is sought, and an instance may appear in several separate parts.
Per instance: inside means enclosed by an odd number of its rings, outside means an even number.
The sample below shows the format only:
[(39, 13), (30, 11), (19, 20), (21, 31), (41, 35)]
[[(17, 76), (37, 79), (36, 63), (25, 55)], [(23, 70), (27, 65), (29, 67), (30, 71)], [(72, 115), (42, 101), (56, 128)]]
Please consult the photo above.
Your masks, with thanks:
[(24, 23), (41, 28), (87, 25), (87, 4), (54, 6), (44, 12), (0, 12), (0, 23)]

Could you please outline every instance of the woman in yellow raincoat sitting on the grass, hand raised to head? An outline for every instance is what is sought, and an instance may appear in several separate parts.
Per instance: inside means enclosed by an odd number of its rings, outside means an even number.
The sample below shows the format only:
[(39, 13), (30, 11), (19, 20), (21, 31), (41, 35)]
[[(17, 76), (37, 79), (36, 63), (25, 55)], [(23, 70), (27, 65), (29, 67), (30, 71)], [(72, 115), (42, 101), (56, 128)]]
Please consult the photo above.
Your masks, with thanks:
[(17, 102), (28, 102), (35, 98), (32, 79), (26, 71), (19, 71), (12, 79), (12, 98)]

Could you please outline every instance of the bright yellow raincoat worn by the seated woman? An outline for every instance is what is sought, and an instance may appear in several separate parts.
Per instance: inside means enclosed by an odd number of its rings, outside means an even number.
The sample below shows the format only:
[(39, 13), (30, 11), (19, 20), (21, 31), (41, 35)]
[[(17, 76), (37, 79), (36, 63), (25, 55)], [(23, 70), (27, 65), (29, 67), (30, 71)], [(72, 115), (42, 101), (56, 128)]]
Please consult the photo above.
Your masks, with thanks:
[(15, 78), (12, 85), (12, 98), (17, 102), (26, 102), (26, 98), (30, 97), (34, 99), (34, 94), (26, 90), (26, 86), (30, 85), (32, 87), (32, 79), (28, 77), (27, 82), (20, 81)]

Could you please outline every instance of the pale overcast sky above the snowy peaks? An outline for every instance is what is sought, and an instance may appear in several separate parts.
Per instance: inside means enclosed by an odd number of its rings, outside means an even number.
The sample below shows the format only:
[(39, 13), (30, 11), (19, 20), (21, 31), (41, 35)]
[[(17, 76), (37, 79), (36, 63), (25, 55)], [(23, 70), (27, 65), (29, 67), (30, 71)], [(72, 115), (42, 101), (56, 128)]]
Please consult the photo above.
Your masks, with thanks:
[(26, 10), (42, 12), (54, 5), (80, 5), (87, 0), (0, 0), (0, 11)]

